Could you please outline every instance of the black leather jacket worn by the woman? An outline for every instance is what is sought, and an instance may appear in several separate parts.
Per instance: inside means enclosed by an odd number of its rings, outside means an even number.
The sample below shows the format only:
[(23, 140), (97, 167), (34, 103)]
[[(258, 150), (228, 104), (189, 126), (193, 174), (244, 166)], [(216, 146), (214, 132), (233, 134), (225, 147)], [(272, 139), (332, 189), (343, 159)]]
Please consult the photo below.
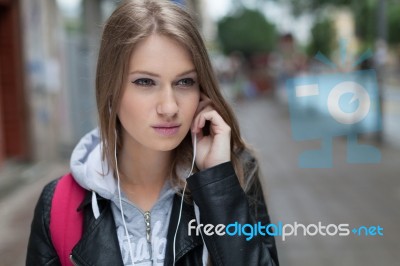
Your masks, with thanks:
[[(199, 206), (202, 224), (255, 224), (270, 223), (262, 193), (257, 191), (258, 179), (245, 194), (230, 162), (201, 171), (188, 178), (188, 188)], [(258, 183), (258, 184), (257, 184)], [(52, 245), (49, 220), (51, 199), (57, 180), (48, 184), (35, 209), (28, 244), (26, 265), (60, 265)], [(167, 235), (164, 265), (173, 265), (173, 238), (178, 222), (180, 196), (175, 195)], [(100, 217), (95, 219), (91, 210), (91, 193), (87, 193), (80, 211), (84, 212), (83, 236), (72, 250), (75, 265), (123, 265), (116, 226), (109, 200), (98, 199)], [(194, 207), (184, 202), (182, 217), (176, 236), (175, 265), (200, 266), (203, 240), (193, 230), (188, 235), (189, 222), (195, 219)], [(195, 225), (196, 223), (194, 223)], [(275, 241), (272, 236), (207, 236), (203, 233), (212, 265), (279, 265)]]

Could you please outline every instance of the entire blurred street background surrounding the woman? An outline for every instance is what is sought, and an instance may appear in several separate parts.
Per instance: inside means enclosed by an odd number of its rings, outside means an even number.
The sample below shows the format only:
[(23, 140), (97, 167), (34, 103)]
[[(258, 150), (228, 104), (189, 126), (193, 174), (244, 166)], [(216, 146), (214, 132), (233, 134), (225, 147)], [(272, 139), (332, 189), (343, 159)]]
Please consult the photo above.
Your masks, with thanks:
[[(255, 149), (272, 221), (381, 226), (384, 236), (277, 237), (281, 265), (398, 265), (400, 261), (400, 2), (181, 0), (194, 14), (224, 95)], [(0, 265), (24, 265), (42, 187), (66, 173), (96, 126), (95, 64), (115, 0), (0, 0)], [(293, 139), (286, 82), (357, 70), (377, 73), (379, 130), (359, 141), (374, 164), (301, 168), (321, 140)], [(310, 114), (321, 103), (305, 102)]]

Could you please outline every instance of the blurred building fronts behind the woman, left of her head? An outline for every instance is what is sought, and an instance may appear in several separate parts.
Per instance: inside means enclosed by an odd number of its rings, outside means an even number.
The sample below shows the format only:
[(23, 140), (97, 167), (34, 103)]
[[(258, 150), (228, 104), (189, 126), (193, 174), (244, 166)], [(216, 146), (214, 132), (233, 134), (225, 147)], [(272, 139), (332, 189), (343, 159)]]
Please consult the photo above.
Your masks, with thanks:
[[(67, 158), (97, 125), (100, 33), (118, 2), (0, 0), (0, 165)], [(201, 27), (203, 0), (174, 2)]]

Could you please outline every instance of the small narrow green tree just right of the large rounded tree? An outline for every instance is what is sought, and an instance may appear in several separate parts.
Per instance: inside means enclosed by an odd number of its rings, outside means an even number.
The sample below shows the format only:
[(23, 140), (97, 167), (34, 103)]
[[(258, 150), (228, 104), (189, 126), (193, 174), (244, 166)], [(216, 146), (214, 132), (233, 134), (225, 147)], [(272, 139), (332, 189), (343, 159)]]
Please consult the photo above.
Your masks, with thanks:
[(332, 20), (317, 21), (311, 29), (311, 40), (307, 49), (310, 56), (321, 52), (329, 57), (335, 47), (336, 32)]

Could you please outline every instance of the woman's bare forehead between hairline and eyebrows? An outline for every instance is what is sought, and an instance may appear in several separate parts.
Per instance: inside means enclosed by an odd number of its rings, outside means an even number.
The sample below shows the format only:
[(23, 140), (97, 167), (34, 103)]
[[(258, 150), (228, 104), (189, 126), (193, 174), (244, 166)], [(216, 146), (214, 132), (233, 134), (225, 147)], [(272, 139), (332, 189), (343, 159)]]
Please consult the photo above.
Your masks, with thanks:
[(129, 59), (129, 72), (150, 71), (174, 74), (194, 69), (189, 51), (176, 40), (153, 34), (139, 42)]

